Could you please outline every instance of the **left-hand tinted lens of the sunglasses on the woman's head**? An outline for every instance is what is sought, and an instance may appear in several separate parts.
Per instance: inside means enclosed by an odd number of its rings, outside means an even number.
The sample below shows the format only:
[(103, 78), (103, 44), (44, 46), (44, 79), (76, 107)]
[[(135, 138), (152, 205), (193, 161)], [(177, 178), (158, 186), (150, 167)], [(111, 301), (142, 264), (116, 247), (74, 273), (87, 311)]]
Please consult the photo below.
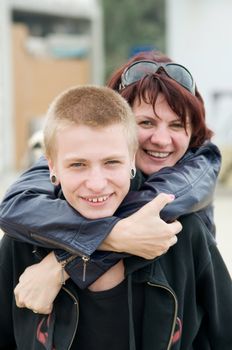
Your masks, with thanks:
[(125, 86), (139, 81), (147, 74), (154, 74), (158, 69), (155, 62), (139, 62), (130, 66), (123, 75), (123, 84)]

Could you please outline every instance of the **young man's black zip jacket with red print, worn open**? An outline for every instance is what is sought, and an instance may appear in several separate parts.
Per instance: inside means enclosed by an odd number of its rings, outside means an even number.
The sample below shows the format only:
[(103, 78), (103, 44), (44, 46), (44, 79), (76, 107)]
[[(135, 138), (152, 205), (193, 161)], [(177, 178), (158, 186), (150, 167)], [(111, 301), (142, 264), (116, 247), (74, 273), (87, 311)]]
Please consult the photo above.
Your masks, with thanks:
[[(133, 282), (144, 285), (143, 350), (232, 349), (230, 275), (202, 220), (191, 214), (181, 218), (181, 223), (178, 244), (160, 259), (125, 259), (131, 350), (135, 350)], [(0, 298), (0, 349), (73, 349), (79, 318), (78, 288), (68, 281), (51, 315), (18, 308), (13, 289), (25, 268), (38, 260), (32, 246), (7, 236), (0, 249), (0, 285), (4, 286)]]

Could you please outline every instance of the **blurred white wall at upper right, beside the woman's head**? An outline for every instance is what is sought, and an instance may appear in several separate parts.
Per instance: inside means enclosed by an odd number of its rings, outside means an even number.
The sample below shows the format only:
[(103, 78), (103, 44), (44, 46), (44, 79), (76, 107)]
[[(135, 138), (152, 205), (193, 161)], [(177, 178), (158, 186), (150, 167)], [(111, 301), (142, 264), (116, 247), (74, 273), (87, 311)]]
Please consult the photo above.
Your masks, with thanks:
[(166, 3), (167, 52), (193, 73), (217, 141), (232, 144), (232, 1)]

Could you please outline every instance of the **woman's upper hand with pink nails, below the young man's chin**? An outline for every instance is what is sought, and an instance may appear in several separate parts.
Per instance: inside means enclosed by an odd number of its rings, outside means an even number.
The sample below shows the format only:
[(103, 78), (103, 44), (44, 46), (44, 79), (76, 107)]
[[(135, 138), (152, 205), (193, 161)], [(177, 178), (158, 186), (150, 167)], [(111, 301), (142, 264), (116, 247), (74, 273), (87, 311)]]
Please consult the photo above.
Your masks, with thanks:
[(178, 221), (167, 224), (159, 213), (174, 200), (174, 196), (159, 194), (135, 214), (119, 221), (102, 243), (102, 250), (126, 252), (154, 259), (164, 254), (177, 242), (177, 233), (182, 230)]

